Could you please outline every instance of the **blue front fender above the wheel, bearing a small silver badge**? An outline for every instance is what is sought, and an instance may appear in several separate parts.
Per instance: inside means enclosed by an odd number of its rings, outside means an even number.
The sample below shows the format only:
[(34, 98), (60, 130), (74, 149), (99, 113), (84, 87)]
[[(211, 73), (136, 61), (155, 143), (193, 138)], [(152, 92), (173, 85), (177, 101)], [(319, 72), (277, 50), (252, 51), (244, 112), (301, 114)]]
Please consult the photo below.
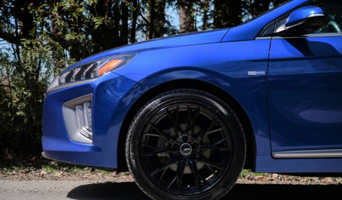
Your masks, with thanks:
[(176, 79), (197, 79), (221, 87), (241, 104), (252, 122), (257, 154), (269, 155), (266, 104), (269, 44), (270, 40), (265, 39), (143, 51), (115, 73), (144, 88), (136, 87), (136, 91), (129, 92), (136, 98), (158, 84)]

